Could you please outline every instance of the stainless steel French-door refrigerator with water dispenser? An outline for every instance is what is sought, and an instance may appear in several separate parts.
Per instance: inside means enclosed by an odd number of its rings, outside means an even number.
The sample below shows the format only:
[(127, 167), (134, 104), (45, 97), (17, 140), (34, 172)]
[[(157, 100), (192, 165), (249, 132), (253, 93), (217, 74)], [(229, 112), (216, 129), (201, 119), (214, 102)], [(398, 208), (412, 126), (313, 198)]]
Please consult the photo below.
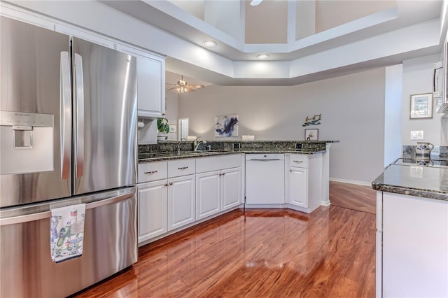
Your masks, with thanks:
[[(136, 59), (0, 29), (0, 297), (64, 297), (137, 262)], [(83, 255), (52, 262), (50, 210), (78, 203)]]

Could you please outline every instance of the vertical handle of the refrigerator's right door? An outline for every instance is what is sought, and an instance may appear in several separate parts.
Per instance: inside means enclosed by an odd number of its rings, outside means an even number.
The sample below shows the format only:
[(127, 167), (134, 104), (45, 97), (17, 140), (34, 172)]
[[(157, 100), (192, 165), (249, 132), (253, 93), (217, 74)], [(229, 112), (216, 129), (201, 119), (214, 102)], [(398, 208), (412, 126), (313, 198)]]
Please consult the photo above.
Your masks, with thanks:
[(75, 101), (76, 101), (76, 140), (75, 140), (75, 176), (83, 176), (84, 169), (84, 79), (83, 57), (74, 55)]

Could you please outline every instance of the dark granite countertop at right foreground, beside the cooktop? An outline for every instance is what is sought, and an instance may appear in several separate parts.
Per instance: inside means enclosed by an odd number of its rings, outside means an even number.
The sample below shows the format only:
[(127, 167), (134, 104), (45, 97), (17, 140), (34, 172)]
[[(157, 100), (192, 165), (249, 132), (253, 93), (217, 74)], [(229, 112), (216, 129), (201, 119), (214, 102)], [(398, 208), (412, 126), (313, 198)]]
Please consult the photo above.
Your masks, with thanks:
[(448, 201), (448, 158), (398, 158), (372, 182), (382, 192)]

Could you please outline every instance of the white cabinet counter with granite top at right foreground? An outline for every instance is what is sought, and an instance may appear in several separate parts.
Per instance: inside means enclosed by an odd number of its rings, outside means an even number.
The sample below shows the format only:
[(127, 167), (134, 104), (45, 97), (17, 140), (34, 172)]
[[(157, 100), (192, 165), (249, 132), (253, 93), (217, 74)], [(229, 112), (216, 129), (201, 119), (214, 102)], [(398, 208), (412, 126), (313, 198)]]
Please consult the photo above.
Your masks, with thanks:
[(377, 190), (377, 297), (448, 297), (448, 157), (403, 155)]

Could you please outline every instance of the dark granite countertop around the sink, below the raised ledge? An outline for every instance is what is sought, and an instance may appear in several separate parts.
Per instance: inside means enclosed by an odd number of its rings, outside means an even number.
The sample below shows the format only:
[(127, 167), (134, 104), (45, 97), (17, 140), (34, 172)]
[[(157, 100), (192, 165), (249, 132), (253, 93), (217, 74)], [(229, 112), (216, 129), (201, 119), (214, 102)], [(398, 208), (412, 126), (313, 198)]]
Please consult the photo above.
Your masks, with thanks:
[(319, 151), (307, 151), (307, 150), (235, 150), (235, 151), (181, 151), (181, 152), (151, 152), (140, 153), (139, 163), (141, 162), (160, 162), (162, 160), (183, 159), (183, 158), (195, 158), (195, 157), (207, 157), (218, 155), (231, 155), (231, 154), (269, 154), (269, 153), (294, 153), (294, 154), (319, 154), (325, 153), (325, 150)]

